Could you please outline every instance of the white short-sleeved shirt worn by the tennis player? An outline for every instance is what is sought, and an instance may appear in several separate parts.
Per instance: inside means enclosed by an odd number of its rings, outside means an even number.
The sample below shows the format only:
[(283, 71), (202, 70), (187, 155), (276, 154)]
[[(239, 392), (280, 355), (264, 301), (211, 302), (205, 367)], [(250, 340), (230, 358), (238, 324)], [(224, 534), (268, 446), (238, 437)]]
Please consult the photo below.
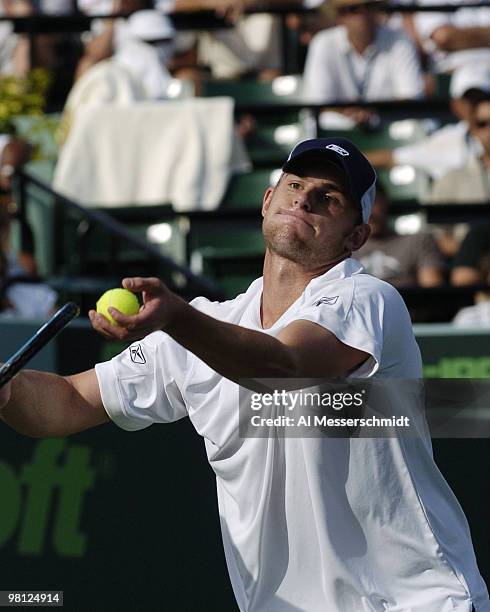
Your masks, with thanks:
[[(421, 377), (400, 295), (354, 259), (313, 279), (266, 330), (261, 294), (258, 279), (234, 300), (193, 306), (272, 336), (313, 321), (371, 355), (357, 376)], [(189, 416), (204, 437), (242, 612), (490, 611), (466, 519), (427, 436), (240, 438), (238, 385), (163, 332), (96, 372), (123, 429)]]

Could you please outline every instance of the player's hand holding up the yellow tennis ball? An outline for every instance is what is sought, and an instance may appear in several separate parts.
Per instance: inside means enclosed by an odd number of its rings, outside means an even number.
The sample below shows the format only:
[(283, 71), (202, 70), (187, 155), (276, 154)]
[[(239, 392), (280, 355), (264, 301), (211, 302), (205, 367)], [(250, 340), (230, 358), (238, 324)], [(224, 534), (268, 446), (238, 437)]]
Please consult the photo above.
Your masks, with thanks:
[(138, 314), (128, 316), (109, 308), (111, 317), (117, 322), (117, 325), (111, 325), (103, 315), (91, 310), (88, 316), (92, 327), (108, 340), (121, 342), (140, 340), (154, 331), (165, 330), (173, 320), (181, 298), (158, 278), (125, 278), (122, 285), (133, 293), (142, 293), (143, 305)]

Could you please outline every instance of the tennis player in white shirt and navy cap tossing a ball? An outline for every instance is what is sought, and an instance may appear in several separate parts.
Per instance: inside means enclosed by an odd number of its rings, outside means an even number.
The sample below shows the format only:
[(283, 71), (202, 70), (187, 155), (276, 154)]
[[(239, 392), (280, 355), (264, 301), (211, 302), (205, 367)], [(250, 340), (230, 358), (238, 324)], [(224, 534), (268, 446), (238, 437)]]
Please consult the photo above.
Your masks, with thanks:
[(24, 371), (3, 391), (3, 418), (34, 436), (189, 416), (216, 473), (242, 611), (490, 612), (426, 432), (239, 436), (244, 378), (422, 377), (400, 295), (351, 257), (369, 236), (375, 180), (345, 139), (298, 144), (265, 192), (264, 275), (244, 294), (189, 305), (157, 279), (126, 279), (143, 293), (140, 313), (114, 311), (120, 327), (90, 317), (108, 338), (135, 343), (75, 376)]

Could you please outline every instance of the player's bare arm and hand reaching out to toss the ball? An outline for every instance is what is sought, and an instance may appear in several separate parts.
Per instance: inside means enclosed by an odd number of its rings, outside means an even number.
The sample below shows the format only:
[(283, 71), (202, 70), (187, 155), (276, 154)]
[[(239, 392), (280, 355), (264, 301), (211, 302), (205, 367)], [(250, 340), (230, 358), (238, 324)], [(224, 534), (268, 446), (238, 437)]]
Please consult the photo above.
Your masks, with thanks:
[(91, 311), (97, 331), (110, 340), (127, 342), (162, 329), (233, 382), (244, 378), (341, 378), (369, 357), (311, 321), (293, 321), (274, 337), (200, 312), (157, 278), (125, 279), (123, 285), (141, 291), (144, 306), (134, 316), (109, 309), (120, 324), (117, 327)]

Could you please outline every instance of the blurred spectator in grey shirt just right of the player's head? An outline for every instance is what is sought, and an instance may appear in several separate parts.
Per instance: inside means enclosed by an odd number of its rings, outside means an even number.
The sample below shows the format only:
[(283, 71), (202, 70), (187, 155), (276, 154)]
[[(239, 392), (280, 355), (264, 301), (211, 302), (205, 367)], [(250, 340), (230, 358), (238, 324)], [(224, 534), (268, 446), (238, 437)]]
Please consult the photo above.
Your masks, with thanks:
[(356, 251), (366, 270), (396, 287), (437, 287), (444, 282), (444, 260), (430, 234), (396, 234), (390, 228), (389, 200), (376, 185), (376, 200), (369, 218), (371, 236)]

